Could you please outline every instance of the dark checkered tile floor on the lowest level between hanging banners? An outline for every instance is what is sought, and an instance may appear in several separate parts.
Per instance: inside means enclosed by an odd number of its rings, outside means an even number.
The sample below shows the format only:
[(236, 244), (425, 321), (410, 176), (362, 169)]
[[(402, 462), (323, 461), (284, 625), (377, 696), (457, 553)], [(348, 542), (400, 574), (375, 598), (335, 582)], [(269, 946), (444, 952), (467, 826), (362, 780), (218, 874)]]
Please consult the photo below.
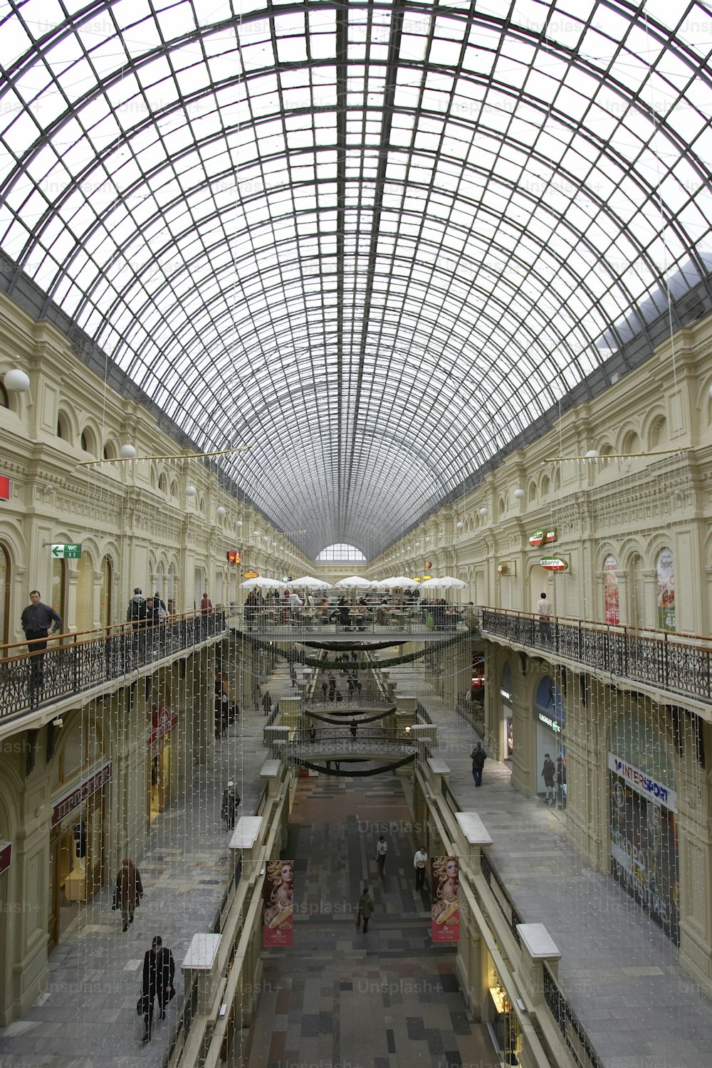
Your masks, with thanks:
[[(455, 949), (433, 946), (415, 892), (402, 780), (301, 780), (286, 853), (296, 861), (295, 943), (265, 951), (256, 1019), (234, 1054), (249, 1068), (494, 1068), (487, 1028), (469, 1018)], [(374, 861), (389, 843), (384, 877)], [(354, 927), (363, 885), (376, 911)]]

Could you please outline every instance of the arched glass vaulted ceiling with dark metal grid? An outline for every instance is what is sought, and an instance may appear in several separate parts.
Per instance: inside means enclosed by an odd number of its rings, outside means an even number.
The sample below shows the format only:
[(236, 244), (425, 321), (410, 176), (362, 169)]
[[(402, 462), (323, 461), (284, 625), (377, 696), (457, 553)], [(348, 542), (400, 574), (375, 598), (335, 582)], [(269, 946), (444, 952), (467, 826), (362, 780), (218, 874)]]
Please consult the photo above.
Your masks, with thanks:
[(707, 279), (712, 17), (642, 10), (4, 0), (0, 246), (371, 557)]

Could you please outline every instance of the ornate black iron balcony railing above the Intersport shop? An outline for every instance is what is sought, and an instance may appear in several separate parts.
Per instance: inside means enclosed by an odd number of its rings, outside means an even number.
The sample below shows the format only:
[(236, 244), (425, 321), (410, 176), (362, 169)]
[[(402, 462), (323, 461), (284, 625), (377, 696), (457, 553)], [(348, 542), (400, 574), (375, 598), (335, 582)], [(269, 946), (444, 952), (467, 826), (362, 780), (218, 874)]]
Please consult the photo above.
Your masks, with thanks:
[(712, 702), (712, 638), (646, 630), (589, 619), (481, 610), (481, 629), (537, 651), (574, 660), (612, 676)]

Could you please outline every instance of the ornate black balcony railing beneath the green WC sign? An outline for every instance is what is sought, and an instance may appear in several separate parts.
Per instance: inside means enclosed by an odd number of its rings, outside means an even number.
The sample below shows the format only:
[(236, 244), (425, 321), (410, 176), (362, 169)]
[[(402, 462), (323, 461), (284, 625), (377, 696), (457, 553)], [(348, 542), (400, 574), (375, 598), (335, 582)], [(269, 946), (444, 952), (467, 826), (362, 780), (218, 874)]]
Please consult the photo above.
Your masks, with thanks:
[(0, 719), (84, 693), (200, 645), (226, 630), (225, 616), (222, 610), (189, 612), (154, 627), (124, 623), (58, 634), (39, 650), (44, 640), (0, 645)]

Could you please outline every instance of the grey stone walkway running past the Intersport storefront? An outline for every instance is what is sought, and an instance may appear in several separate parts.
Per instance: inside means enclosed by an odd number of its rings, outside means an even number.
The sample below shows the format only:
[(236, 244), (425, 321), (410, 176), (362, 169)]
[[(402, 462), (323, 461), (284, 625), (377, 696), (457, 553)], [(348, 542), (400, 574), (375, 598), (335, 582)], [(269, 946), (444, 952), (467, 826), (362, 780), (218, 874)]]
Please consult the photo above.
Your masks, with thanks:
[(560, 986), (606, 1068), (699, 1068), (712, 1063), (712, 1003), (678, 965), (678, 951), (612, 878), (582, 864), (566, 814), (524, 797), (504, 764), (474, 785), (478, 740), (422, 675), (391, 669), (438, 723), (438, 756), (460, 807), (492, 836), (492, 861), (525, 923), (542, 923), (561, 952)]

